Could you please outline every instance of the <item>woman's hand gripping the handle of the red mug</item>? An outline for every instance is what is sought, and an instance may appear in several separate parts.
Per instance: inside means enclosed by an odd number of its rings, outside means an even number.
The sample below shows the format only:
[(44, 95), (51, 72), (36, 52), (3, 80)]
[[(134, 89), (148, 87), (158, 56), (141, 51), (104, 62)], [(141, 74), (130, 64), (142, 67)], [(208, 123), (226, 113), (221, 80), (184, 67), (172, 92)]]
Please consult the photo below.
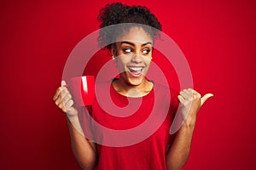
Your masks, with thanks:
[(67, 113), (67, 116), (78, 116), (78, 110), (73, 107), (74, 102), (72, 95), (67, 89), (67, 83), (61, 81), (61, 87), (57, 88), (53, 100), (63, 112)]

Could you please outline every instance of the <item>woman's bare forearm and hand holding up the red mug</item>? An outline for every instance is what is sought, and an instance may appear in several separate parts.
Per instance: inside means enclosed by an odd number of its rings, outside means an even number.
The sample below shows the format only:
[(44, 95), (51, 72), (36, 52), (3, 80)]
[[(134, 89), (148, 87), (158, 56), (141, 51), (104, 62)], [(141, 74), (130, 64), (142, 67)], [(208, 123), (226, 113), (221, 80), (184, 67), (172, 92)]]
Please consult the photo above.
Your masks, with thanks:
[(67, 114), (67, 124), (74, 156), (83, 169), (93, 169), (96, 165), (96, 145), (79, 133), (83, 131), (79, 123), (78, 110), (73, 107), (72, 95), (65, 85), (66, 82), (62, 81), (61, 87), (56, 90), (55, 105)]

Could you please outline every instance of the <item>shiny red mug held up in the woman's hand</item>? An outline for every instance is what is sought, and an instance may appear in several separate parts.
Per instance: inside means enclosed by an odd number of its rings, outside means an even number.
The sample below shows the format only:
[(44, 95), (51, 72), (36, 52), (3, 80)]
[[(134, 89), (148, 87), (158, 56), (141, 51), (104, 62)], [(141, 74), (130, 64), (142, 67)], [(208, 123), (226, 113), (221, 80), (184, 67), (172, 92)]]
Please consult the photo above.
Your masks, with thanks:
[(95, 77), (73, 77), (67, 82), (76, 105), (92, 105), (95, 99)]

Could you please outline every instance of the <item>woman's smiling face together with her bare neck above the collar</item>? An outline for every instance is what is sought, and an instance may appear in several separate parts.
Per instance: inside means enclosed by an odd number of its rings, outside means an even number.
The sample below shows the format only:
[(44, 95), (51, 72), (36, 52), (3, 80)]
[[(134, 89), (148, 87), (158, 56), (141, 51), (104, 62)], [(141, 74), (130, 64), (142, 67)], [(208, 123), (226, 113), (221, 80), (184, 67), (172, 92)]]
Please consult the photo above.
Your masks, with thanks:
[[(141, 35), (143, 33), (143, 36)], [(142, 28), (133, 27), (112, 48), (120, 77), (113, 82), (113, 87), (125, 96), (141, 97), (148, 94), (153, 84), (146, 75), (152, 59), (152, 38)], [(129, 92), (134, 93), (129, 93)], [(131, 95), (132, 94), (132, 95)]]

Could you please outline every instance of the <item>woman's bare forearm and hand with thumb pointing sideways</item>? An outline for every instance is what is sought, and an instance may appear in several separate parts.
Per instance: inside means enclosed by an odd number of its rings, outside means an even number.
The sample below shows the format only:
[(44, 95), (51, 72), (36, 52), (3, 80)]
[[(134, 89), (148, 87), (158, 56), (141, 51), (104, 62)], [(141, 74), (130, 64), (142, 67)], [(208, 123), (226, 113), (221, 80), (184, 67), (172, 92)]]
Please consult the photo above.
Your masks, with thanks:
[(170, 150), (166, 155), (166, 167), (168, 170), (182, 169), (189, 158), (189, 150), (195, 129), (196, 114), (201, 105), (212, 97), (212, 94), (206, 94), (201, 98), (201, 94), (193, 89), (185, 89), (177, 96), (181, 109), (177, 114), (183, 117), (183, 125), (176, 133)]

